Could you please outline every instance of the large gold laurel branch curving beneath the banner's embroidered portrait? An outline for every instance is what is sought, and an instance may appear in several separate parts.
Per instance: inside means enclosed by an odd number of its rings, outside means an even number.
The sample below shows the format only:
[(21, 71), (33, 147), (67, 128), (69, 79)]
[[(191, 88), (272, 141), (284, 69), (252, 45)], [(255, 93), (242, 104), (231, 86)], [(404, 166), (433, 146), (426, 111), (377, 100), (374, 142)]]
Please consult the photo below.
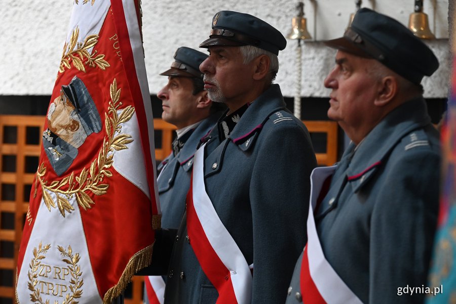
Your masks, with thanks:
[[(65, 217), (65, 212), (71, 213), (74, 210), (69, 203), (69, 199), (75, 195), (78, 204), (87, 210), (95, 204), (92, 198), (86, 192), (92, 192), (94, 195), (106, 194), (109, 185), (104, 182), (107, 178), (112, 177), (109, 168), (113, 163), (114, 150), (120, 151), (128, 149), (127, 145), (133, 142), (133, 138), (126, 133), (121, 133), (122, 123), (131, 119), (135, 112), (133, 106), (127, 106), (122, 109), (120, 114), (117, 113), (122, 102), (120, 101), (121, 89), (117, 88), (117, 80), (114, 79), (109, 86), (111, 101), (109, 102), (108, 112), (105, 113), (105, 128), (106, 137), (103, 139), (101, 150), (97, 159), (93, 160), (90, 168), (83, 168), (79, 176), (74, 174), (74, 171), (60, 181), (52, 181), (49, 183), (45, 179), (47, 168), (44, 162), (36, 172), (37, 180), (43, 190), (43, 200), (51, 211), (51, 207), (59, 208), (60, 214)], [(55, 199), (51, 196), (55, 195)]]

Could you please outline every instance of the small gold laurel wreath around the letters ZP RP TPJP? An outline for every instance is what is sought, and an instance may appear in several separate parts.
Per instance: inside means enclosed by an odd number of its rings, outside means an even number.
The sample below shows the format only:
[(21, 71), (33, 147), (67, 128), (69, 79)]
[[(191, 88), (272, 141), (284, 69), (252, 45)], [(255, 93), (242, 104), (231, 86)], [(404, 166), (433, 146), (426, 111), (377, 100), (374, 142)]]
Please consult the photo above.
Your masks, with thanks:
[[(40, 291), (37, 288), (38, 281), (38, 268), (41, 265), (41, 260), (46, 258), (46, 253), (51, 248), (51, 244), (46, 244), (44, 247), (42, 243), (38, 245), (38, 249), (36, 247), (33, 248), (33, 258), (30, 262), (30, 271), (28, 272), (28, 290), (31, 291), (30, 293), (30, 300), (33, 303), (40, 303), (40, 304), (49, 304), (49, 299), (43, 301), (41, 296), (43, 290)], [(78, 265), (79, 260), (81, 259), (79, 253), (72, 254), (71, 246), (68, 245), (68, 251), (66, 251), (62, 246), (57, 246), (62, 255), (62, 261), (65, 262), (68, 266), (69, 273), (71, 274), (71, 280), (69, 289), (71, 293), (67, 293), (65, 299), (63, 300), (62, 304), (78, 304), (79, 301), (76, 299), (80, 298), (83, 291), (81, 287), (84, 285), (84, 280), (81, 278), (82, 272), (81, 267)], [(54, 301), (54, 304), (58, 304), (58, 301)]]

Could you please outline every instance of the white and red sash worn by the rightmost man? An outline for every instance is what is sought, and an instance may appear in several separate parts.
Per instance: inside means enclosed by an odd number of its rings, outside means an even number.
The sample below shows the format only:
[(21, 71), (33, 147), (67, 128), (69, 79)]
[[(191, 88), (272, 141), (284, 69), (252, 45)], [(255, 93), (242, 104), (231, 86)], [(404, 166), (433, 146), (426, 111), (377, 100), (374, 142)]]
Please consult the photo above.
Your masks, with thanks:
[(362, 304), (326, 260), (314, 220), (314, 209), (324, 181), (336, 166), (315, 168), (311, 174), (311, 196), (307, 219), (308, 241), (302, 256), (300, 287), (305, 304)]

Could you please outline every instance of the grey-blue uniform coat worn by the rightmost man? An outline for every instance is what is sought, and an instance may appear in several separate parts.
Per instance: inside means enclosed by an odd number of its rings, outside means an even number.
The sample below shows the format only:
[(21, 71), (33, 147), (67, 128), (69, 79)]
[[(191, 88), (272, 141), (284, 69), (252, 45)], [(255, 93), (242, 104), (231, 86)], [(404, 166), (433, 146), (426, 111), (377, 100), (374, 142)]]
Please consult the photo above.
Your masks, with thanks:
[[(437, 223), (439, 135), (423, 99), (388, 114), (341, 159), (316, 211), (323, 253), (364, 303), (421, 303)], [(296, 303), (302, 254), (286, 303)]]

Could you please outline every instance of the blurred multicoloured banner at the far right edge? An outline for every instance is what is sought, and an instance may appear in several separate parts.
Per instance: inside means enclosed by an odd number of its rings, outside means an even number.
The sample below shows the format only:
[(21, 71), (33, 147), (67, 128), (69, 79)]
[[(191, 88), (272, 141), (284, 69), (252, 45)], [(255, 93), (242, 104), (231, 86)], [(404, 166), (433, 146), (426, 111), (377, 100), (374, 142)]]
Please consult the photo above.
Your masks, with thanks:
[[(456, 12), (452, 20), (456, 21)], [(456, 32), (452, 33), (453, 68), (448, 110), (441, 126), (442, 192), (426, 303), (456, 302)], [(421, 287), (421, 286), (419, 286)]]

